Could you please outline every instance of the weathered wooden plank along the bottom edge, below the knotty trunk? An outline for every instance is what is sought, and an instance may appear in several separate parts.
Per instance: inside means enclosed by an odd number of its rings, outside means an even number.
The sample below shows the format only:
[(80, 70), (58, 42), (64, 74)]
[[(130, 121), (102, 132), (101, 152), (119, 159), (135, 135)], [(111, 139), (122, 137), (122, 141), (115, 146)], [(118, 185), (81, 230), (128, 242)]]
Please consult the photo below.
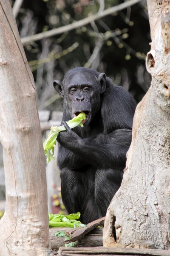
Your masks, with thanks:
[(75, 247), (60, 247), (58, 250), (59, 256), (84, 256), (95, 255), (102, 256), (119, 255), (119, 256), (170, 256), (168, 250), (153, 250), (153, 249), (131, 249), (119, 247), (90, 247), (90, 248), (75, 248)]

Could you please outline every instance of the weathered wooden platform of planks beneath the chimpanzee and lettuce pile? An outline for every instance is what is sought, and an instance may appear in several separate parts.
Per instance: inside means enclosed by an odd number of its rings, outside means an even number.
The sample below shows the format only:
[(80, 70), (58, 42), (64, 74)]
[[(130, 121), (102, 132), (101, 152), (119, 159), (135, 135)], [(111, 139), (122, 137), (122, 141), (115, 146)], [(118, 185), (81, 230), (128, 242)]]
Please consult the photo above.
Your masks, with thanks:
[[(170, 250), (155, 250), (145, 249), (150, 244), (147, 240), (140, 240), (136, 244), (136, 248), (120, 248), (120, 247), (103, 247), (102, 237), (103, 228), (98, 227), (98, 224), (103, 225), (104, 219), (92, 221), (83, 228), (50, 228), (51, 249), (54, 255), (58, 256), (170, 256)], [(71, 235), (70, 239), (65, 241), (65, 237), (55, 236), (57, 231), (65, 232)], [(77, 240), (78, 239), (78, 240)], [(74, 241), (75, 247), (64, 247), (65, 243)], [(66, 244), (66, 245), (67, 245)], [(144, 247), (138, 247), (139, 244)], [(138, 249), (140, 248), (140, 249)], [(150, 248), (150, 247), (149, 247)]]

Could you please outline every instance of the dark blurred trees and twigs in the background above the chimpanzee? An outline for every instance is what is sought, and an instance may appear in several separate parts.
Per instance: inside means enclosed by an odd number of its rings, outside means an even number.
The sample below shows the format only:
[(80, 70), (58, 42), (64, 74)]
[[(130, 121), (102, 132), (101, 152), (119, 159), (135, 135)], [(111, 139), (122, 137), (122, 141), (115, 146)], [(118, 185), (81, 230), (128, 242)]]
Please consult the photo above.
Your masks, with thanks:
[[(11, 0), (14, 5), (15, 0)], [(23, 0), (16, 17), (21, 38), (95, 14), (122, 0)], [(62, 111), (61, 99), (52, 86), (74, 67), (105, 72), (116, 85), (128, 90), (139, 102), (150, 86), (145, 57), (150, 46), (146, 1), (81, 28), (25, 44), (34, 75), (39, 110)]]

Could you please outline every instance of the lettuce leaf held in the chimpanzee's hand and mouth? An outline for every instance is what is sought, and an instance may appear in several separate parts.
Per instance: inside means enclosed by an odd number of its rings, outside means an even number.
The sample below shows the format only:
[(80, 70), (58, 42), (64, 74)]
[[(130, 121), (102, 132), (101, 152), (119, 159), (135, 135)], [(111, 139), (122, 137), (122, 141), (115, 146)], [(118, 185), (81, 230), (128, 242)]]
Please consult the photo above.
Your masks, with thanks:
[[(82, 121), (86, 119), (85, 113), (81, 112), (78, 116), (67, 122), (68, 126), (72, 129), (77, 125), (83, 127)], [(51, 126), (51, 131), (48, 135), (47, 140), (43, 143), (45, 156), (47, 156), (47, 163), (54, 160), (54, 147), (56, 145), (56, 139), (60, 131), (65, 131), (64, 125), (62, 126)]]

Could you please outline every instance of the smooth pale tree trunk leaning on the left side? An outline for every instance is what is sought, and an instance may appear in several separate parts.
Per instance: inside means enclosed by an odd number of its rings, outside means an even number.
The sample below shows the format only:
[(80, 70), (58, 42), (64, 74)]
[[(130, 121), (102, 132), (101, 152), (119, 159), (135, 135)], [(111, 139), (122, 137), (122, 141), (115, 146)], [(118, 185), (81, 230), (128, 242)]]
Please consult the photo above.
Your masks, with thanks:
[(0, 142), (6, 180), (0, 255), (50, 255), (45, 157), (34, 80), (8, 0), (0, 0)]

